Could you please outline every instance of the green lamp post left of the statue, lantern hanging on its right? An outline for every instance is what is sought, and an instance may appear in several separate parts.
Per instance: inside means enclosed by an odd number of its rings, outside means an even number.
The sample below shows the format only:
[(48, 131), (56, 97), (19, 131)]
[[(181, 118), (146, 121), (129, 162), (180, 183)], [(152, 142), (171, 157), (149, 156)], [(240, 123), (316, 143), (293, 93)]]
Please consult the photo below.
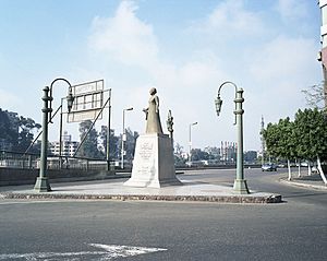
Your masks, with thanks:
[(51, 102), (53, 99), (52, 87), (57, 81), (64, 81), (69, 85), (69, 94), (66, 96), (66, 105), (68, 105), (69, 112), (71, 111), (74, 103), (74, 97), (72, 94), (72, 85), (68, 80), (63, 78), (58, 78), (53, 80), (50, 87), (46, 86), (43, 90), (44, 108), (43, 108), (43, 138), (41, 138), (40, 167), (39, 167), (39, 177), (36, 179), (34, 186), (34, 190), (38, 192), (51, 191), (51, 187), (47, 177), (48, 123), (49, 123), (48, 120), (49, 119), (51, 120), (51, 111), (52, 111)]

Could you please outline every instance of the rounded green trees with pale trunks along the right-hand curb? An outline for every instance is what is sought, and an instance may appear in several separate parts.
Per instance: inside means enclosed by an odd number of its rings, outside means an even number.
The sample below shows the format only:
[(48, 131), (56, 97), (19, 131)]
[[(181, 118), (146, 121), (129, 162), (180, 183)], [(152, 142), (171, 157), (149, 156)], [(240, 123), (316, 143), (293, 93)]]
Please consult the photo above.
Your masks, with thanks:
[(290, 159), (316, 159), (322, 179), (327, 183), (322, 168), (322, 161), (327, 159), (326, 114), (318, 108), (299, 110), (294, 122), (289, 118), (280, 119), (278, 124), (269, 123), (263, 131), (268, 153), (288, 159), (289, 179)]

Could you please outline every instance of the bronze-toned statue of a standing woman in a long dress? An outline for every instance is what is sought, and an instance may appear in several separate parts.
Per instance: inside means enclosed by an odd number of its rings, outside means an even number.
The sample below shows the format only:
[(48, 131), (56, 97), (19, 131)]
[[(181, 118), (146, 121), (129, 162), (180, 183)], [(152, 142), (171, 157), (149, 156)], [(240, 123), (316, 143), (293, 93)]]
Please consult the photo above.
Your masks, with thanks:
[(146, 114), (146, 131), (145, 133), (162, 133), (159, 116), (159, 98), (156, 95), (155, 87), (149, 91), (150, 98), (148, 100), (148, 108), (144, 109)]

